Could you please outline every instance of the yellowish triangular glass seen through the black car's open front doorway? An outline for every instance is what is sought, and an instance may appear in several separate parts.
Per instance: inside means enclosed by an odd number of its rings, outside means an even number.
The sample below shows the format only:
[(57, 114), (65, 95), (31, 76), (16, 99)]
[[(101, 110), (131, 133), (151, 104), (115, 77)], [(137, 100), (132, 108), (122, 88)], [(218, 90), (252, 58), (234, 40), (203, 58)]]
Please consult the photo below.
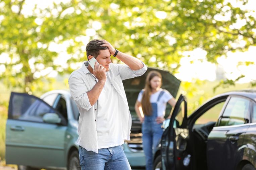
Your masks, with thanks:
[(195, 125), (201, 125), (206, 124), (208, 122), (217, 122), (219, 114), (225, 104), (224, 102), (218, 103), (217, 105), (210, 108), (208, 111), (206, 111), (202, 116), (200, 116)]

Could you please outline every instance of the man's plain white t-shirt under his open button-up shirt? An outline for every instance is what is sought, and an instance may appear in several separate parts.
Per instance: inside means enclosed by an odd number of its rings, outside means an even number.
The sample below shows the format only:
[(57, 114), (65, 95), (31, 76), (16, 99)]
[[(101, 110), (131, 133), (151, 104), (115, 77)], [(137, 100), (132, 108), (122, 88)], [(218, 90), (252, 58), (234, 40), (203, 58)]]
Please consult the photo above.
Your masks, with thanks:
[[(109, 148), (122, 145), (121, 108), (118, 107), (118, 93), (109, 81), (109, 74), (98, 99), (96, 130), (98, 147)], [(98, 81), (98, 80), (97, 80)]]

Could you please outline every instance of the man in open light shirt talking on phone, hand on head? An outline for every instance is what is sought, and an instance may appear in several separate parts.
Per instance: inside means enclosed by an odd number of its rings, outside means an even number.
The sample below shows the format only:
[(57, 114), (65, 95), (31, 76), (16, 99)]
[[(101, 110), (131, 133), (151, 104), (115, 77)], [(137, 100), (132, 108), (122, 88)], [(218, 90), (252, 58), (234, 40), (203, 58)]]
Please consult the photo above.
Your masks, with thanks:
[[(121, 145), (130, 140), (131, 114), (122, 80), (143, 75), (147, 67), (139, 59), (115, 49), (106, 40), (92, 40), (86, 46), (88, 61), (68, 79), (78, 106), (78, 144), (82, 170), (131, 170)], [(111, 63), (116, 57), (124, 64)], [(91, 60), (93, 61), (93, 60)]]

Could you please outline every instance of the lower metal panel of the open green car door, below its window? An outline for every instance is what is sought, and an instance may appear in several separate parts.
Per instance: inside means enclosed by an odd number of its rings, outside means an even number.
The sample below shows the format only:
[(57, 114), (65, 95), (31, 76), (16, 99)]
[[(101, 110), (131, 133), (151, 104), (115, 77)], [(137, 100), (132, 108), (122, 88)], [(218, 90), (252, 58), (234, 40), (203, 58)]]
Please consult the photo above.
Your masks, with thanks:
[[(12, 127), (23, 131), (13, 131)], [(7, 120), (6, 163), (34, 167), (63, 167), (66, 126)]]

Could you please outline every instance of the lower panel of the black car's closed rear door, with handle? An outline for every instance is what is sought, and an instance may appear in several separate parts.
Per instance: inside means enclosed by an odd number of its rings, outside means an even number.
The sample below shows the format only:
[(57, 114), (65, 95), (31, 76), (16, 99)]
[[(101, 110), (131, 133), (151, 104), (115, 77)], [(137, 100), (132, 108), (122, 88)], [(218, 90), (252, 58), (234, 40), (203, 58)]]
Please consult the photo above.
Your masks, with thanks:
[[(208, 170), (235, 169), (242, 159), (244, 136), (248, 128), (248, 124), (213, 128), (207, 141)], [(239, 139), (232, 142), (232, 136)]]

